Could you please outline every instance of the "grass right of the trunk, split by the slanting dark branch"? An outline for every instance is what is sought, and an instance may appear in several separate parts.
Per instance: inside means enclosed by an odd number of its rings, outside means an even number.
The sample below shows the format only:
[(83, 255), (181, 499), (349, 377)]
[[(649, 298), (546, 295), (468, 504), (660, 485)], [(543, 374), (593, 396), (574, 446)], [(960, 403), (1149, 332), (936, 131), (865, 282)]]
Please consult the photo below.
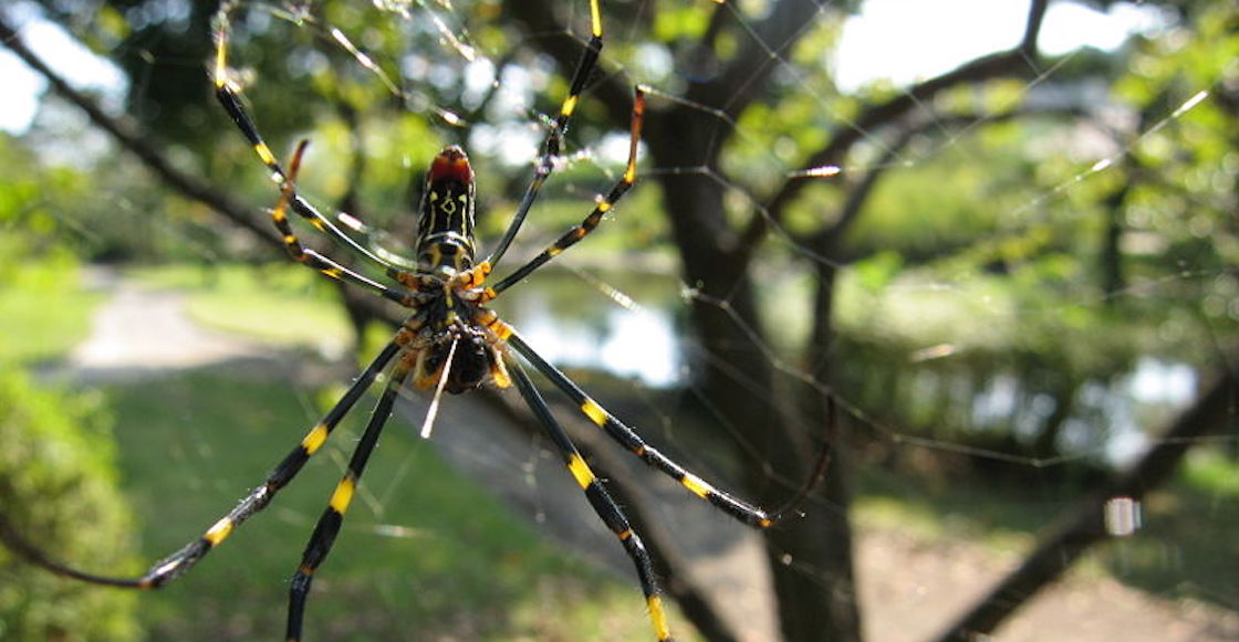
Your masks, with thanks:
[[(911, 532), (928, 544), (980, 543), (1020, 559), (1092, 489), (985, 481), (980, 476), (864, 469), (854, 518), (861, 528)], [(1239, 609), (1239, 465), (1198, 448), (1175, 479), (1141, 502), (1142, 527), (1090, 549), (1073, 569), (1105, 573), (1150, 595)]]

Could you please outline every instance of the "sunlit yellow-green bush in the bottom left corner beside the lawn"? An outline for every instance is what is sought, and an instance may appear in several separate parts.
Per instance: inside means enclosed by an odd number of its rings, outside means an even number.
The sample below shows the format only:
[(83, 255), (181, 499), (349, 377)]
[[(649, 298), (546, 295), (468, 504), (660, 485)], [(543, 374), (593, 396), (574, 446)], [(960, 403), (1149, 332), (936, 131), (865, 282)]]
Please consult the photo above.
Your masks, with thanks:
[[(102, 573), (131, 571), (129, 506), (100, 398), (0, 370), (0, 505), (31, 541)], [(136, 640), (136, 595), (53, 576), (0, 548), (0, 637)]]

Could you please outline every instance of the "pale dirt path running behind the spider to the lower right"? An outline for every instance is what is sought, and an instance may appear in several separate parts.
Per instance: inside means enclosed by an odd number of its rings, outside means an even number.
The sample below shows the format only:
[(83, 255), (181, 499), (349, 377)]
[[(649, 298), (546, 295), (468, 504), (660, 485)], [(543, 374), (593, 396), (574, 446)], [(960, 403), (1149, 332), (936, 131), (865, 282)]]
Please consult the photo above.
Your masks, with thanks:
[[(195, 324), (185, 297), (142, 288), (108, 272), (93, 276), (110, 292), (90, 336), (69, 359), (73, 376), (94, 381), (136, 381), (169, 370), (211, 365), (304, 370), (296, 359)], [(615, 538), (589, 512), (579, 492), (548, 449), (528, 437), (503, 430), (507, 422), (479, 411), (479, 403), (449, 400), (435, 429), (439, 450), (471, 475), (487, 480), (520, 515), (571, 546), (582, 557), (631, 575)], [(403, 403), (400, 412), (420, 426), (424, 406)], [(613, 475), (618, 471), (611, 471)], [(639, 470), (637, 471), (639, 473)], [(627, 473), (624, 473), (627, 474)], [(653, 477), (652, 475), (636, 475)], [(746, 642), (774, 640), (773, 604), (762, 562), (762, 541), (679, 489), (654, 479), (647, 492), (664, 501), (672, 532), (694, 542), (693, 575), (714, 589), (720, 611)], [(1020, 552), (1004, 555), (971, 543), (926, 543), (897, 531), (862, 531), (857, 538), (860, 601), (866, 638), (932, 638), (1005, 571)], [(725, 607), (722, 607), (725, 606)], [(1239, 614), (1209, 605), (1158, 600), (1108, 578), (1075, 578), (1054, 585), (999, 631), (996, 640), (1129, 642), (1223, 642), (1239, 640)]]

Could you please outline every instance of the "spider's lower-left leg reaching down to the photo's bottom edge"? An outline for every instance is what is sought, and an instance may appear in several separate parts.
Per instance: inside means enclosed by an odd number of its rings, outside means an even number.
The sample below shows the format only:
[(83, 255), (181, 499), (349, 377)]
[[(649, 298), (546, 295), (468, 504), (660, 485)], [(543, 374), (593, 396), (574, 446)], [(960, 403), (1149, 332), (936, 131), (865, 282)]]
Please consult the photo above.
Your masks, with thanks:
[(396, 393), (408, 376), (409, 366), (404, 362), (399, 362), (392, 371), (392, 380), (383, 390), (383, 396), (374, 406), (374, 412), (370, 413), (366, 432), (353, 449), (352, 459), (348, 460), (348, 469), (331, 494), (331, 501), (323, 510), (322, 517), (318, 518), (318, 523), (306, 543), (306, 549), (301, 554), (301, 564), (289, 585), (289, 621), (285, 638), (290, 642), (301, 640), (301, 623), (305, 618), (306, 599), (310, 596), (313, 573), (327, 558), (331, 546), (336, 542), (336, 536), (339, 534), (339, 526), (343, 523), (344, 512), (348, 511), (348, 505), (352, 503), (353, 495), (357, 492), (357, 484), (366, 470), (366, 463), (369, 461), (374, 447), (378, 445), (379, 434), (383, 433), (383, 427), (392, 416), (392, 406), (395, 403)]

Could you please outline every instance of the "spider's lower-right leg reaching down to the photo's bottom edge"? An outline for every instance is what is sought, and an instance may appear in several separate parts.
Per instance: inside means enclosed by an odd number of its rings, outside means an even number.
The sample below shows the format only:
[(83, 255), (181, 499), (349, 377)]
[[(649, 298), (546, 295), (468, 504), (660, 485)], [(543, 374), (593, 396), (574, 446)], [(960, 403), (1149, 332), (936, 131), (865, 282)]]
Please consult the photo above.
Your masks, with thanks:
[(624, 552), (628, 553), (628, 557), (632, 558), (633, 564), (637, 567), (641, 590), (646, 595), (646, 607), (649, 611), (649, 618), (654, 625), (654, 633), (659, 642), (673, 640), (670, 628), (667, 625), (667, 614), (663, 609), (662, 590), (658, 588), (654, 567), (650, 563), (646, 546), (641, 542), (641, 537), (632, 529), (628, 518), (620, 510), (620, 505), (616, 503), (611, 494), (603, 487), (602, 481), (590, 470), (576, 445), (572, 444), (567, 433), (564, 432), (564, 428), (551, 414), (546, 401), (543, 400), (538, 388), (534, 387), (524, 367), (518, 361), (510, 360), (508, 369), (512, 372), (512, 379), (517, 382), (517, 390), (538, 417), (543, 428), (546, 429), (546, 434), (550, 437), (551, 443), (555, 444), (555, 449), (564, 458), (564, 465), (567, 466), (576, 484), (581, 486), (593, 512), (598, 515), (602, 522), (607, 524), (607, 528), (620, 539)]

